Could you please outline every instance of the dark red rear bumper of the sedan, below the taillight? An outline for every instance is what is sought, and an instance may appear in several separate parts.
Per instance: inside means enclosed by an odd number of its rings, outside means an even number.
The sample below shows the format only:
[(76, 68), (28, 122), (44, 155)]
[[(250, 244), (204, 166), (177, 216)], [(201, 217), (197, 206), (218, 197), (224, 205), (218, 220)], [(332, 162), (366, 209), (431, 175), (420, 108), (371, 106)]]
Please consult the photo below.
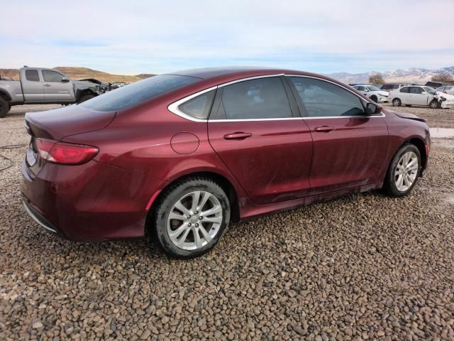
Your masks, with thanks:
[(48, 232), (74, 240), (143, 237), (150, 198), (166, 185), (98, 161), (46, 163), (35, 178), (24, 162), (22, 173), (28, 214)]

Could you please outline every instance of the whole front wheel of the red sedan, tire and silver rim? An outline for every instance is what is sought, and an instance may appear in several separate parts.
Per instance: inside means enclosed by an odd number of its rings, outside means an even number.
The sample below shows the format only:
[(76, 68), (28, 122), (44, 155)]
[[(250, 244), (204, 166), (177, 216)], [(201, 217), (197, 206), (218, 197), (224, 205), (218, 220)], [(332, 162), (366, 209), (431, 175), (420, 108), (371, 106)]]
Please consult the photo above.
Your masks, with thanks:
[(414, 144), (404, 144), (392, 158), (384, 179), (383, 189), (387, 195), (402, 197), (416, 185), (421, 167), (421, 153)]

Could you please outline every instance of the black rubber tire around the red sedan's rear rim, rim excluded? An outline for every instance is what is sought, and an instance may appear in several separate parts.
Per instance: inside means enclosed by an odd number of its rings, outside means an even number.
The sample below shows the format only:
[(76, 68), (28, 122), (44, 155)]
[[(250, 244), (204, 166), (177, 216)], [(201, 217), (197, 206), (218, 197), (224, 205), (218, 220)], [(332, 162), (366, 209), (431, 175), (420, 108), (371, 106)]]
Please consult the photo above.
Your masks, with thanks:
[[(222, 222), (220, 224), (220, 227), (218, 228), (218, 232), (216, 232), (216, 235), (213, 237), (213, 239), (211, 239), (210, 242), (204, 245), (204, 247), (195, 250), (182, 249), (180, 247), (177, 247), (177, 245), (174, 244), (174, 242), (172, 242), (169, 237), (169, 233), (167, 232), (167, 218), (169, 217), (169, 214), (174, 205), (182, 197), (184, 197), (184, 195), (197, 190), (203, 190), (216, 197), (222, 207)], [(153, 209), (152, 216), (153, 226), (151, 228), (154, 229), (152, 230), (154, 232), (153, 234), (155, 235), (155, 237), (157, 237), (156, 239), (160, 243), (160, 246), (165, 251), (165, 253), (168, 256), (179, 259), (189, 259), (200, 256), (201, 254), (205, 254), (206, 252), (213, 249), (213, 247), (218, 243), (219, 239), (221, 239), (228, 228), (228, 223), (231, 216), (231, 208), (226, 193), (223, 191), (221, 186), (219, 186), (213, 180), (206, 178), (188, 178), (186, 180), (182, 180), (181, 182), (175, 183), (174, 185), (170, 185), (170, 187), (167, 188), (164, 193), (162, 193), (162, 196), (160, 196), (157, 205)], [(202, 224), (200, 225), (202, 226)], [(209, 227), (209, 229), (210, 228), (211, 227)], [(195, 238), (194, 231), (189, 232), (189, 234), (192, 234), (193, 239)], [(188, 236), (190, 238), (189, 234)], [(203, 236), (203, 234), (199, 235)]]

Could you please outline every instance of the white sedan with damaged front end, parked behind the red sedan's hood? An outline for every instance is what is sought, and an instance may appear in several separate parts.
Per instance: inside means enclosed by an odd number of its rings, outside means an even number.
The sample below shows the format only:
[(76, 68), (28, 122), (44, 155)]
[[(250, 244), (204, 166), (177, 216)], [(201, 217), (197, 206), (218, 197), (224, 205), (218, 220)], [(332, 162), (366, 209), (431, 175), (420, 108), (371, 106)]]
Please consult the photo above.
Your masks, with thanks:
[(432, 87), (414, 86), (401, 87), (389, 92), (389, 100), (394, 107), (404, 105), (422, 105), (436, 109), (440, 106), (439, 98)]

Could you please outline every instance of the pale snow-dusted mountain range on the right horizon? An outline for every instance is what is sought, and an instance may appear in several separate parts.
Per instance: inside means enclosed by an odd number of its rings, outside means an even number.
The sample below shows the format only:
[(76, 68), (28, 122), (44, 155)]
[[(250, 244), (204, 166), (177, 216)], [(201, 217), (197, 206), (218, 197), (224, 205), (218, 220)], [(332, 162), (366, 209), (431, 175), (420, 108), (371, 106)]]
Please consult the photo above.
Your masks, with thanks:
[(431, 80), (432, 76), (440, 75), (441, 73), (448, 73), (454, 77), (454, 66), (442, 67), (441, 69), (436, 70), (427, 70), (414, 67), (406, 70), (399, 69), (385, 72), (371, 71), (356, 74), (348, 72), (336, 72), (331, 73), (328, 76), (347, 84), (353, 84), (367, 83), (369, 81), (369, 76), (376, 73), (381, 73), (386, 82), (409, 82), (423, 85)]

